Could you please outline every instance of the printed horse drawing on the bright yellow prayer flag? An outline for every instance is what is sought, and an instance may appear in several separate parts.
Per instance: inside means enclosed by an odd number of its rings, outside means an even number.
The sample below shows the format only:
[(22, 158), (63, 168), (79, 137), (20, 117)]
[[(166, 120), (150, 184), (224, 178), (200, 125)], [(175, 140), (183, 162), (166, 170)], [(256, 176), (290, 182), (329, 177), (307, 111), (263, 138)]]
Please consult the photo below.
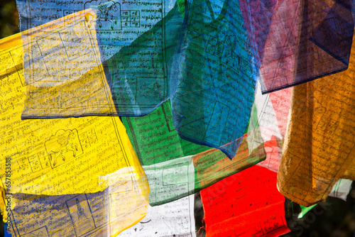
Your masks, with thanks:
[(75, 158), (82, 153), (82, 147), (76, 129), (58, 130), (55, 136), (51, 136), (50, 139), (45, 142), (45, 148), (52, 167)]

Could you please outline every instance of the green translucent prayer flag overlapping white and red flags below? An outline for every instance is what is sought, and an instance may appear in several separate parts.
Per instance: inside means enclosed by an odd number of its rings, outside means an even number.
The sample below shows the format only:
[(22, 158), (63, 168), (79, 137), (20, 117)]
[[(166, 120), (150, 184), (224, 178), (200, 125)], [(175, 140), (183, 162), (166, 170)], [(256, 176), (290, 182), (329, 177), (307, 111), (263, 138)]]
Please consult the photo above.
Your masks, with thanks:
[[(179, 138), (168, 102), (147, 116), (122, 117), (148, 177), (151, 206), (199, 192), (266, 159), (257, 119), (249, 121), (249, 128), (239, 138), (241, 145), (230, 160), (217, 148), (210, 149)], [(252, 114), (256, 116), (256, 106)]]

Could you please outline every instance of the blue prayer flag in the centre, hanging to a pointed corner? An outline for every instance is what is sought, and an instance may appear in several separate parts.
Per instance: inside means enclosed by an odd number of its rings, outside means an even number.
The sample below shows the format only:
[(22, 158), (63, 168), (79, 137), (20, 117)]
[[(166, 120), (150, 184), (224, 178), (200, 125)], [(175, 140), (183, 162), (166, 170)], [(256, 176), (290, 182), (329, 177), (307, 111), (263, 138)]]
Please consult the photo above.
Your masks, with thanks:
[(195, 0), (186, 9), (187, 31), (172, 69), (173, 123), (182, 138), (233, 158), (258, 74), (239, 1)]

